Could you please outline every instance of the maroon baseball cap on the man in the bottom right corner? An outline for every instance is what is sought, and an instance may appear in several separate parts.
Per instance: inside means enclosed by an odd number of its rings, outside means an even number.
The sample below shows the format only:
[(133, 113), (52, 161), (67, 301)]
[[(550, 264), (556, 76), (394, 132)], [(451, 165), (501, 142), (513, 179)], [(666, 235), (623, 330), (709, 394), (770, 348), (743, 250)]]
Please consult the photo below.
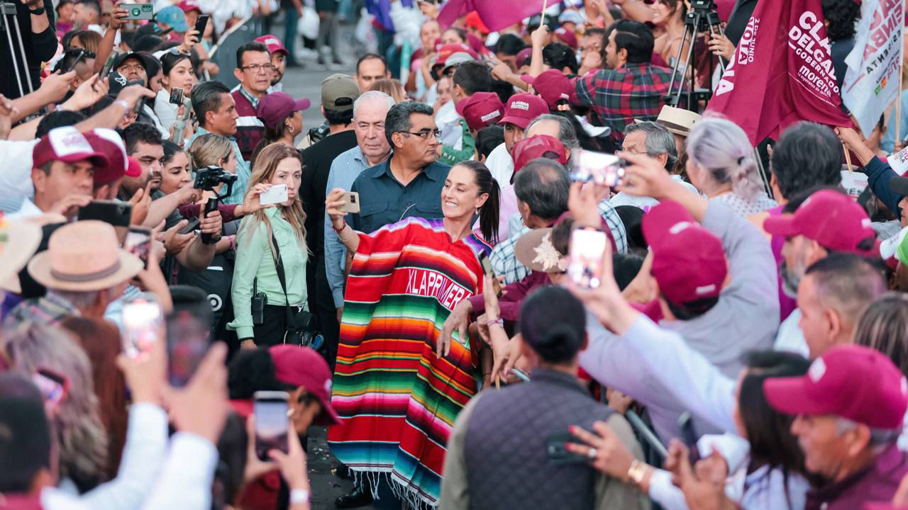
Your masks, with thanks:
[(786, 415), (834, 415), (867, 427), (902, 427), (908, 380), (882, 352), (859, 345), (836, 346), (804, 376), (767, 378), (766, 401)]

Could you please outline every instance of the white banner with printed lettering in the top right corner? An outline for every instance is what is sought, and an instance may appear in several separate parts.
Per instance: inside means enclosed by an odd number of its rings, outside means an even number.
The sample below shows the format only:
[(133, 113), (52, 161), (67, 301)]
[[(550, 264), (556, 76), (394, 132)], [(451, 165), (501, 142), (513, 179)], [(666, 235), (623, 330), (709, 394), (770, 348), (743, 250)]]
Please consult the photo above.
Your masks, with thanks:
[[(864, 137), (899, 95), (904, 25), (903, 0), (864, 0), (854, 34), (854, 49), (845, 57), (842, 101), (857, 119)], [(908, 126), (902, 132), (908, 131)]]

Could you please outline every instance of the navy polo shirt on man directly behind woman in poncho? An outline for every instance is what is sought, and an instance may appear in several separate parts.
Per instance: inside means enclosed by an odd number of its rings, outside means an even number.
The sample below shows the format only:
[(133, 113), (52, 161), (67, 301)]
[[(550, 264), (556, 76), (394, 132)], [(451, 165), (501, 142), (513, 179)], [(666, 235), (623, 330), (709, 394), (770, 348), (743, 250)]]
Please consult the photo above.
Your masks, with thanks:
[[(393, 155), (391, 156), (393, 158)], [(391, 158), (360, 173), (350, 191), (360, 193), (360, 213), (350, 226), (372, 233), (404, 218), (441, 218), (441, 189), (451, 167), (433, 162), (404, 186), (391, 173)]]

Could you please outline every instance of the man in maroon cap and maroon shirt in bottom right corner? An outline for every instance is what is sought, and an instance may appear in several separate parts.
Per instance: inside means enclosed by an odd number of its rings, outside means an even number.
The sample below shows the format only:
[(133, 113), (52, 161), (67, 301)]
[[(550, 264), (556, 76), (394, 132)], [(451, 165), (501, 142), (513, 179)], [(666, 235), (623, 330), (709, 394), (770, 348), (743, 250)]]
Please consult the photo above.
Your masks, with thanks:
[(792, 434), (807, 471), (825, 484), (805, 510), (851, 510), (892, 499), (908, 473), (896, 441), (908, 409), (908, 380), (883, 353), (848, 345), (817, 358), (799, 378), (768, 378), (769, 405), (795, 415)]

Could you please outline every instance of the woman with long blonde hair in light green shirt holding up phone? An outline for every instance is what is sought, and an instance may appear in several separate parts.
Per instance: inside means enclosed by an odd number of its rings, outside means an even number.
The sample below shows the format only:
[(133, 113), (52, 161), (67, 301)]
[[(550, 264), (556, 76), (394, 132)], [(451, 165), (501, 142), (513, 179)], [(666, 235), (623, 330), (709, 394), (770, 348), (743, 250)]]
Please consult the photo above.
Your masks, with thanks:
[(242, 348), (284, 343), (290, 320), (308, 308), (301, 176), (300, 152), (283, 143), (262, 149), (252, 167), (250, 188), (286, 185), (287, 200), (246, 216), (237, 233), (234, 319), (227, 328), (236, 331)]

